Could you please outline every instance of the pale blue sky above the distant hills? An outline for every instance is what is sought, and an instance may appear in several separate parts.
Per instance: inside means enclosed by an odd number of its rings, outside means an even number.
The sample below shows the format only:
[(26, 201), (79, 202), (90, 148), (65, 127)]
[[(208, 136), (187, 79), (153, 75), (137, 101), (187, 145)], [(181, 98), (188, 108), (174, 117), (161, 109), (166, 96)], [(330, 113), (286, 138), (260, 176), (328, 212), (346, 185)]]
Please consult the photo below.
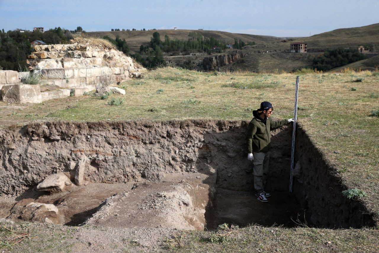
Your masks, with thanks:
[(0, 0), (0, 29), (60, 26), (87, 32), (130, 29), (221, 30), (270, 36), (309, 36), (379, 22), (378, 0), (122, 1)]

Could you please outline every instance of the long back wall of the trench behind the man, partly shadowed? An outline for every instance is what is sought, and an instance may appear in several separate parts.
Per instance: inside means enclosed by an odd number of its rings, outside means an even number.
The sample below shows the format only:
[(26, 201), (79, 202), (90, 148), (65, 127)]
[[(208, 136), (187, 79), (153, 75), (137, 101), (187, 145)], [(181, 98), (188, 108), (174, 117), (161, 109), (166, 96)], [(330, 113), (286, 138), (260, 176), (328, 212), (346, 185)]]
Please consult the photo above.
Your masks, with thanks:
[[(62, 171), (72, 179), (80, 156), (89, 158), (91, 182), (160, 181), (182, 172), (216, 174), (218, 187), (251, 190), (244, 121), (36, 122), (19, 131), (0, 131), (0, 193), (17, 195)], [(282, 150), (285, 131), (273, 133), (272, 176), (290, 163)], [(287, 137), (285, 137), (287, 136)], [(288, 167), (287, 167), (288, 168)], [(276, 181), (276, 180), (273, 180)], [(283, 181), (283, 180), (282, 180)], [(273, 183), (272, 190), (287, 185)]]

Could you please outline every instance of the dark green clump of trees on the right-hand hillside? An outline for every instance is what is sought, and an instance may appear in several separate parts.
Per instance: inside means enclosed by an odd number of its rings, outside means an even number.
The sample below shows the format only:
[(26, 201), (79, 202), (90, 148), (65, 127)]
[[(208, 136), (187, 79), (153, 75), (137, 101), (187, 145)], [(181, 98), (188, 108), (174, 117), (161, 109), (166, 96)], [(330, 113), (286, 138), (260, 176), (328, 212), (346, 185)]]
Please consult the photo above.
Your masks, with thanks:
[(328, 71), (363, 59), (366, 59), (366, 56), (357, 50), (339, 47), (326, 50), (324, 55), (313, 58), (312, 67), (317, 70)]

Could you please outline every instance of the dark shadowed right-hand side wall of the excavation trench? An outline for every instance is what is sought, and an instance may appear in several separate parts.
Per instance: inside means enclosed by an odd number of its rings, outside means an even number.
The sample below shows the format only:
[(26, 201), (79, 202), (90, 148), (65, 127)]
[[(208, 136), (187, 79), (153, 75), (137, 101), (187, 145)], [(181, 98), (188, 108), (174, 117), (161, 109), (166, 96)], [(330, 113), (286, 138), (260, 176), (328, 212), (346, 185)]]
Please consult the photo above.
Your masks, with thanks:
[(294, 194), (311, 225), (324, 228), (375, 225), (373, 213), (361, 202), (342, 195), (346, 187), (301, 127), (296, 132), (295, 149)]

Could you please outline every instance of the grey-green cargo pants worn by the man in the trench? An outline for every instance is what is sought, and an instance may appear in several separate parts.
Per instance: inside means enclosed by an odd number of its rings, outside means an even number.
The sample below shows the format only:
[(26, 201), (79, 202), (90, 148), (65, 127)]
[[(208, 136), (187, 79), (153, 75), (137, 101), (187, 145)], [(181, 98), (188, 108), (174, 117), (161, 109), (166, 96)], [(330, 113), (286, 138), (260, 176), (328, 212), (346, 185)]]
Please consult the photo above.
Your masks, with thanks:
[(265, 190), (266, 176), (268, 173), (268, 163), (270, 160), (270, 153), (267, 152), (253, 152), (253, 175), (254, 175), (254, 188), (255, 193), (260, 194)]

